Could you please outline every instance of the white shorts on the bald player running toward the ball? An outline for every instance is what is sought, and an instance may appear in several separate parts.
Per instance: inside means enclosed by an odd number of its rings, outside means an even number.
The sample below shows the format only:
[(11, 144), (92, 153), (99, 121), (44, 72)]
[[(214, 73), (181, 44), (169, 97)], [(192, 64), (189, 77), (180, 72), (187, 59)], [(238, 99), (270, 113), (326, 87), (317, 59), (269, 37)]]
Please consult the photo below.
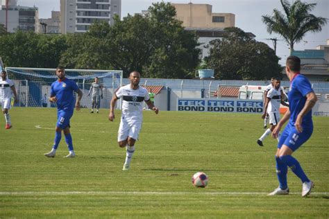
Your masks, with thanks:
[(137, 140), (140, 130), (142, 129), (142, 121), (127, 119), (126, 116), (121, 116), (118, 132), (118, 142), (128, 139), (128, 137)]

